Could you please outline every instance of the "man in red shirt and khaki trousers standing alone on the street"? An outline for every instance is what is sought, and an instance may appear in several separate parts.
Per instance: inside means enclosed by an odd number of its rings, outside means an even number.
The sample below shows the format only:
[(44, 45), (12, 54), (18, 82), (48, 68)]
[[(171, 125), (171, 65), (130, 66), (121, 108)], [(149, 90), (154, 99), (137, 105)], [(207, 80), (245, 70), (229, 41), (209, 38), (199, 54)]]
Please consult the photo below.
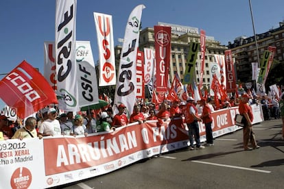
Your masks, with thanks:
[[(244, 94), (241, 96), (241, 101), (239, 102), (239, 114), (244, 116), (245, 123), (244, 123), (244, 150), (252, 150), (252, 149), (258, 149), (259, 145), (257, 145), (257, 140), (255, 140), (255, 134), (252, 131), (252, 120), (253, 120), (253, 114), (252, 109), (248, 105), (248, 100), (250, 99), (250, 96), (248, 94)], [(248, 147), (248, 141), (250, 140), (250, 143), (252, 144), (252, 148)]]

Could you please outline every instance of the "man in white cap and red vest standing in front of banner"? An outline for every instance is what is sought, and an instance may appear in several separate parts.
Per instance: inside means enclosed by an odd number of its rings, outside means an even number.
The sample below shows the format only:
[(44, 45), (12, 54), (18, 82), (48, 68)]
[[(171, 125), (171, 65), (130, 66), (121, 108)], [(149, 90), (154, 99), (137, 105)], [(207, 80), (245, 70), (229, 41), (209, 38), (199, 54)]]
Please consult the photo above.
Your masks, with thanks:
[(189, 149), (195, 149), (193, 145), (193, 136), (194, 140), (196, 140), (196, 149), (204, 149), (204, 147), (200, 144), (200, 133), (198, 125), (198, 121), (201, 121), (201, 118), (198, 116), (198, 110), (193, 104), (193, 101), (193, 97), (187, 98), (187, 111), (185, 111), (185, 123), (187, 123), (187, 127), (189, 128)]

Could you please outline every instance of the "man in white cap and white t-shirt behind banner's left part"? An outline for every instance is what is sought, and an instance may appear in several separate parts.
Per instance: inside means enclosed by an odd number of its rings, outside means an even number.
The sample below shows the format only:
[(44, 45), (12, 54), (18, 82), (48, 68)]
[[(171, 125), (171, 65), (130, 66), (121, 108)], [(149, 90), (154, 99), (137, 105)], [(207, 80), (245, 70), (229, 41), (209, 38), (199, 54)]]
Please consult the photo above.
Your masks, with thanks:
[(38, 136), (60, 136), (61, 127), (59, 121), (56, 119), (57, 112), (55, 108), (49, 108), (47, 111), (47, 120), (38, 128)]

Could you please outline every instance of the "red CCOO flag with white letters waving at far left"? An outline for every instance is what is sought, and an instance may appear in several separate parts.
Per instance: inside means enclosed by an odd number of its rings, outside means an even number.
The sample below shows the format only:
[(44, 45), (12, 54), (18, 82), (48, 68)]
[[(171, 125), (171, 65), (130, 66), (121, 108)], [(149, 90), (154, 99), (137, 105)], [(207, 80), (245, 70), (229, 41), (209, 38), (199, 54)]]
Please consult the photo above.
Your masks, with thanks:
[(56, 94), (33, 66), (23, 61), (0, 81), (0, 97), (16, 114), (25, 118), (51, 103), (58, 103)]

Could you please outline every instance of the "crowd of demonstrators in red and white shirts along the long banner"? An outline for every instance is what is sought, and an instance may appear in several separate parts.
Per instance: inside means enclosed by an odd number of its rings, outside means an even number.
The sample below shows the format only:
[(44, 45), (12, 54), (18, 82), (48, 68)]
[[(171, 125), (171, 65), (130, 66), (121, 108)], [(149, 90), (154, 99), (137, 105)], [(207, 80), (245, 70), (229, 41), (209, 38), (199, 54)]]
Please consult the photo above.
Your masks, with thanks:
[[(213, 131), (212, 131), (212, 117), (211, 113), (215, 110), (220, 110), (221, 108), (230, 108), (233, 106), (239, 106), (240, 112), (246, 115), (250, 122), (247, 121), (247, 128), (244, 129), (244, 149), (249, 149), (247, 144), (247, 138), (254, 134), (250, 127), (252, 117), (250, 117), (250, 111), (248, 110), (251, 104), (259, 103), (261, 108), (263, 108), (263, 114), (265, 115), (265, 120), (269, 120), (272, 116), (274, 118), (283, 119), (284, 125), (284, 108), (283, 100), (278, 101), (276, 98), (268, 98), (267, 95), (259, 98), (257, 95), (250, 96), (244, 93), (241, 98), (235, 98), (235, 96), (230, 97), (230, 99), (225, 99), (224, 101), (219, 100), (217, 103), (211, 98), (202, 98), (197, 103), (194, 102), (193, 97), (189, 97), (187, 101), (163, 101), (160, 104), (154, 103), (138, 103), (134, 105), (134, 110), (130, 114), (130, 118), (126, 115), (126, 105), (123, 103), (117, 105), (118, 113), (113, 115), (113, 108), (110, 106), (106, 110), (99, 110), (97, 114), (95, 111), (88, 110), (86, 112), (79, 112), (79, 114), (73, 116), (73, 112), (62, 113), (58, 116), (55, 108), (44, 108), (40, 110), (37, 114), (38, 120), (35, 127), (38, 131), (38, 136), (69, 136), (69, 135), (83, 135), (92, 134), (102, 131), (115, 130), (116, 127), (121, 127), (128, 125), (129, 123), (139, 122), (143, 123), (147, 120), (158, 120), (159, 121), (169, 121), (175, 118), (184, 118), (185, 123), (189, 129), (189, 142), (190, 149), (202, 149), (204, 148), (200, 144), (200, 131), (198, 122), (202, 121), (206, 129), (206, 146), (213, 145)], [(248, 95), (248, 102), (245, 102), (245, 96)], [(216, 104), (218, 107), (216, 107)], [(248, 107), (246, 105), (248, 105)], [(273, 114), (272, 114), (273, 112)], [(9, 139), (15, 134), (16, 130), (13, 131), (12, 127), (8, 127), (9, 121), (6, 121), (5, 116), (0, 117), (0, 140), (1, 138)], [(29, 125), (31, 123), (28, 123)], [(1, 126), (4, 125), (4, 126)], [(20, 124), (19, 124), (20, 125)], [(20, 126), (19, 128), (29, 128), (32, 126)], [(284, 127), (284, 126), (283, 126)], [(83, 128), (83, 129), (82, 129)], [(19, 130), (19, 129), (18, 129)], [(283, 129), (284, 130), (284, 129)], [(23, 131), (23, 129), (21, 129)], [(20, 131), (19, 131), (20, 132)], [(283, 131), (284, 132), (284, 131)], [(283, 136), (282, 136), (283, 137)], [(14, 138), (20, 138), (19, 136), (14, 136)], [(196, 147), (193, 145), (193, 139), (196, 142)], [(252, 139), (252, 148), (259, 147)]]

